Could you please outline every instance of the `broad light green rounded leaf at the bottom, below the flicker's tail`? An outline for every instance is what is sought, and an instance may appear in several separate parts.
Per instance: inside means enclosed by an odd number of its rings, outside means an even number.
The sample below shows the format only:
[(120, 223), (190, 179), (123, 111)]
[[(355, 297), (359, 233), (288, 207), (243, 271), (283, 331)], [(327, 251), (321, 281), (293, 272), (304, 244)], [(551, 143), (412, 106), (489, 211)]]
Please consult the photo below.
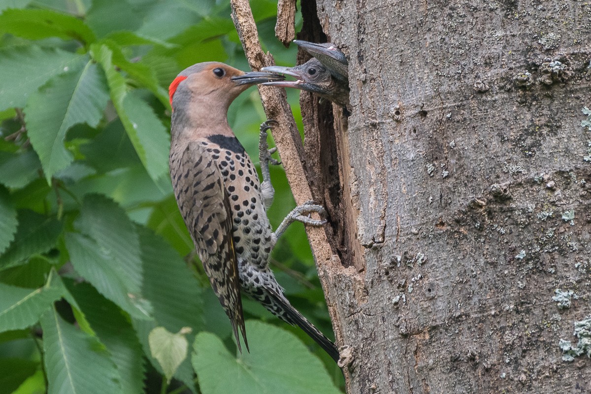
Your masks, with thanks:
[[(192, 363), (203, 394), (340, 393), (293, 334), (258, 321), (247, 321), (246, 332), (251, 351), (238, 358), (215, 335), (197, 334)], [(220, 371), (232, 379), (220, 379)]]

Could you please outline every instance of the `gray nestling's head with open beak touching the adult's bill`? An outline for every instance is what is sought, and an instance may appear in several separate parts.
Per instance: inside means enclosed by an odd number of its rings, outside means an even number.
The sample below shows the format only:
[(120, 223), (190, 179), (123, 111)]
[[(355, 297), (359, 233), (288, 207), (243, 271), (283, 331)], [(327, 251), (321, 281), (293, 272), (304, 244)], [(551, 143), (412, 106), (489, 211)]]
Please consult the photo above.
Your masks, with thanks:
[(262, 70), (296, 77), (295, 81), (265, 82), (263, 83), (264, 85), (294, 87), (296, 89), (316, 93), (320, 97), (344, 107), (349, 104), (348, 84), (336, 79), (333, 74), (330, 73), (329, 69), (316, 58), (311, 58), (300, 66), (270, 66), (263, 67)]

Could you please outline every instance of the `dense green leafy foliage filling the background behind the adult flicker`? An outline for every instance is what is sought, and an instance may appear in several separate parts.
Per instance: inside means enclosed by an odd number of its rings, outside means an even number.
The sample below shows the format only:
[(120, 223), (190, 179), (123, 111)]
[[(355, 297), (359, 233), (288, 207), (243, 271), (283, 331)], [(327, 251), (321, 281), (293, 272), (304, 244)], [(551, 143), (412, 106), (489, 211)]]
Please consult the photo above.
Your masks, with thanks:
[[(294, 64), (277, 4), (251, 6), (264, 49)], [(225, 0), (0, 0), (0, 394), (340, 392), (332, 359), (249, 300), (251, 353), (237, 354), (192, 252), (167, 86), (210, 60), (248, 70)], [(230, 107), (252, 158), (264, 120), (254, 88)], [(282, 169), (271, 176), (277, 226), (295, 203)], [(301, 224), (272, 260), (330, 333)]]

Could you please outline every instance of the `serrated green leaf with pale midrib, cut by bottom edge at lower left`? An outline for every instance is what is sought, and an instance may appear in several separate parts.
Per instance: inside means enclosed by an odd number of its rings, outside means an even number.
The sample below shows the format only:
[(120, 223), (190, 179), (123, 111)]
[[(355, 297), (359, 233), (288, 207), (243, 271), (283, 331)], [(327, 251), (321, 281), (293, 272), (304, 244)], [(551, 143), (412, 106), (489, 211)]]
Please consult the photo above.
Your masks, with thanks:
[(122, 393), (117, 368), (96, 338), (64, 321), (55, 308), (40, 323), (48, 394)]

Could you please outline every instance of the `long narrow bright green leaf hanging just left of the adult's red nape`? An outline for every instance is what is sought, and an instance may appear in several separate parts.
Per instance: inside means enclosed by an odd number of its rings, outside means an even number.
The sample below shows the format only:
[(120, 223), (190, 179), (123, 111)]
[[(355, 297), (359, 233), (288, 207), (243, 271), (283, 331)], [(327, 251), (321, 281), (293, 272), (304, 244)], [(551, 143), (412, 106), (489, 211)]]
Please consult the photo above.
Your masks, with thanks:
[(166, 129), (148, 103), (135, 91), (127, 91), (124, 77), (113, 67), (112, 51), (106, 45), (94, 45), (91, 53), (105, 70), (111, 100), (139, 159), (157, 181), (168, 174), (170, 139)]

